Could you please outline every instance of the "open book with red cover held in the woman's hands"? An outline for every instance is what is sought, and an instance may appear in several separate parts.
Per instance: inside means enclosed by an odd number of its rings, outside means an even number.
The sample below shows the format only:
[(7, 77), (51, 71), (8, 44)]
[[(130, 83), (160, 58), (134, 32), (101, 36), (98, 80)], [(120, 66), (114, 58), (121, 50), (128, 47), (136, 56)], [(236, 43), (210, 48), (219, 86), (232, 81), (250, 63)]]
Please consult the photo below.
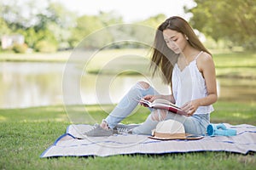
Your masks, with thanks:
[(177, 105), (172, 104), (172, 102), (166, 99), (154, 99), (153, 102), (150, 102), (146, 99), (141, 99), (139, 103), (145, 107), (151, 107), (154, 109), (164, 109), (172, 111), (173, 113), (177, 113), (179, 115), (188, 116), (187, 112), (182, 111)]

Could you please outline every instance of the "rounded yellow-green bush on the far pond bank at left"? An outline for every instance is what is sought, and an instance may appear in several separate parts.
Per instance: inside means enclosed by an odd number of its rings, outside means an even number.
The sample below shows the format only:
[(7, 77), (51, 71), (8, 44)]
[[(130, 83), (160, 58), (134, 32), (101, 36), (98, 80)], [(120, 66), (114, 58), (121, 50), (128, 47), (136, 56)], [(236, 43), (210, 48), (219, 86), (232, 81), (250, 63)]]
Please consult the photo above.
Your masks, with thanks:
[(54, 53), (57, 50), (57, 46), (45, 40), (39, 41), (35, 45), (35, 51), (42, 53)]

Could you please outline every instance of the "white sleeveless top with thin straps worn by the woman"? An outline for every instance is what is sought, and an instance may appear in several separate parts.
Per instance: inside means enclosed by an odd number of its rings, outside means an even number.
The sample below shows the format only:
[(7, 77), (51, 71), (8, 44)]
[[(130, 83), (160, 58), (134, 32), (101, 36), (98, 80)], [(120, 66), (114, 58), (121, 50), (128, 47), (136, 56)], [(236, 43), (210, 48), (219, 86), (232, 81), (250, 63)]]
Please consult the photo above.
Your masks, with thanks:
[[(198, 54), (193, 61), (181, 71), (177, 63), (172, 71), (172, 93), (176, 105), (182, 106), (193, 99), (207, 97), (207, 86), (204, 77), (198, 70), (196, 59), (202, 54)], [(200, 106), (194, 114), (207, 114), (214, 111), (212, 105)]]

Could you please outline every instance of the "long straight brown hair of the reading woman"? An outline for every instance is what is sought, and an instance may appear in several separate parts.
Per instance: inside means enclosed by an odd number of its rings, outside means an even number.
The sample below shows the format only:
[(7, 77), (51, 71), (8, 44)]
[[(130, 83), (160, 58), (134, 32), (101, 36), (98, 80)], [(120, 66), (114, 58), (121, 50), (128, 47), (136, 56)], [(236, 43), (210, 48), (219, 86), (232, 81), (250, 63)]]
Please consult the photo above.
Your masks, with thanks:
[(179, 54), (175, 54), (170, 48), (167, 47), (163, 37), (163, 31), (166, 29), (178, 31), (183, 35), (186, 35), (189, 39), (189, 44), (193, 48), (204, 51), (210, 55), (212, 54), (207, 50), (207, 48), (204, 47), (186, 20), (183, 20), (183, 18), (178, 16), (172, 16), (171, 18), (165, 20), (158, 27), (155, 33), (150, 69), (153, 70), (153, 76), (156, 72), (160, 72), (163, 82), (172, 85), (173, 65), (175, 65), (177, 62), (177, 57)]

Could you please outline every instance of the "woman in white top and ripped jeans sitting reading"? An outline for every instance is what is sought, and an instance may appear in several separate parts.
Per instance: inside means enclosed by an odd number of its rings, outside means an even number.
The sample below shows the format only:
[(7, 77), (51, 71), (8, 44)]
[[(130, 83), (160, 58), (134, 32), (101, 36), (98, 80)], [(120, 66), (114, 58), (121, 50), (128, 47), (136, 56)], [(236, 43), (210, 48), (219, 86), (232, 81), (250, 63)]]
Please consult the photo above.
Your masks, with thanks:
[[(147, 82), (137, 82), (100, 125), (85, 133), (88, 136), (108, 136), (117, 128), (129, 133), (151, 134), (160, 121), (173, 119), (183, 123), (186, 133), (203, 135), (210, 122), (212, 104), (217, 101), (215, 66), (212, 55), (203, 46), (186, 20), (173, 16), (156, 31), (150, 68), (153, 75), (161, 72), (170, 84), (172, 94), (160, 95)], [(180, 106), (188, 116), (166, 110), (152, 109), (147, 120), (131, 129), (119, 124), (135, 109), (139, 99), (168, 99)]]

